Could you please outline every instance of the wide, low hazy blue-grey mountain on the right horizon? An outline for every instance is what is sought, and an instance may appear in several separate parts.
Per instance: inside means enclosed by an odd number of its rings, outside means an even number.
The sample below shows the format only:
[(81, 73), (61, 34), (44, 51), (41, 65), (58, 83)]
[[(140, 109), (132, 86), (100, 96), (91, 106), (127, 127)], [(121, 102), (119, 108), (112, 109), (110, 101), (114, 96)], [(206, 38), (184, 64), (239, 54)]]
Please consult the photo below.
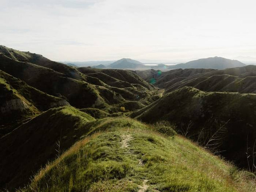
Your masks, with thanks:
[(204, 69), (226, 69), (234, 67), (243, 67), (246, 64), (238, 60), (230, 60), (222, 57), (210, 57), (205, 59), (198, 59), (187, 63), (170, 66), (170, 69), (188, 69), (188, 68), (204, 68)]

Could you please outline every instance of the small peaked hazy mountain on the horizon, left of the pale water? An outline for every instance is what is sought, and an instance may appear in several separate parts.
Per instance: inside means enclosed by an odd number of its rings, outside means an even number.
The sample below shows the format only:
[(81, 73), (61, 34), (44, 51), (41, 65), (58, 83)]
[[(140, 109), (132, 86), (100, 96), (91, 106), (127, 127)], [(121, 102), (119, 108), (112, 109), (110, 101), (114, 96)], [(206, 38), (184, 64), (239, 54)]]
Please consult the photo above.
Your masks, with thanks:
[(122, 58), (108, 66), (108, 68), (115, 68), (115, 69), (124, 69), (124, 68), (144, 68), (144, 64), (142, 62)]

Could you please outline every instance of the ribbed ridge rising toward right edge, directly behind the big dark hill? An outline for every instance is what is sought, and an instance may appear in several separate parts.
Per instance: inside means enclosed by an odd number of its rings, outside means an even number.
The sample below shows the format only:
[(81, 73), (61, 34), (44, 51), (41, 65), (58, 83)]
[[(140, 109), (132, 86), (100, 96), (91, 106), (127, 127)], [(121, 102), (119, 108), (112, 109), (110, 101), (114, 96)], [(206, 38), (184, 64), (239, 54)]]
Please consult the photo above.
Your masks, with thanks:
[(158, 84), (166, 88), (166, 92), (194, 86), (203, 91), (256, 93), (256, 66), (214, 70), (192, 77), (174, 78), (164, 84), (159, 81)]

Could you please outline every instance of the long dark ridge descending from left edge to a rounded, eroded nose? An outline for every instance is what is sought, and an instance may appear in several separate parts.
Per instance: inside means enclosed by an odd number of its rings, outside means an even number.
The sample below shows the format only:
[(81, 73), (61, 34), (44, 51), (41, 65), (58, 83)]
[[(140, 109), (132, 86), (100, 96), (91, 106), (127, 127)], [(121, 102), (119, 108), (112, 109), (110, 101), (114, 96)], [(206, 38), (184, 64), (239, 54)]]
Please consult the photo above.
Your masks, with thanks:
[(104, 99), (94, 85), (68, 78), (50, 68), (19, 62), (0, 54), (0, 70), (24, 80), (43, 92), (67, 98), (72, 106), (86, 108), (105, 105)]

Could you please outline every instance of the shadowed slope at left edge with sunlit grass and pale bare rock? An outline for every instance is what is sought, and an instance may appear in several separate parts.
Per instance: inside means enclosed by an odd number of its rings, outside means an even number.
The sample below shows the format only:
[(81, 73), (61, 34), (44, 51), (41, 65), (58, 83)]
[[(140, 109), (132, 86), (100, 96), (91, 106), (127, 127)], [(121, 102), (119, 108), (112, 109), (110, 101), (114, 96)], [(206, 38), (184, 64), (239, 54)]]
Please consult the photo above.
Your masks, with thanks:
[(0, 136), (41, 111), (69, 105), (66, 100), (41, 92), (1, 70), (0, 93)]

